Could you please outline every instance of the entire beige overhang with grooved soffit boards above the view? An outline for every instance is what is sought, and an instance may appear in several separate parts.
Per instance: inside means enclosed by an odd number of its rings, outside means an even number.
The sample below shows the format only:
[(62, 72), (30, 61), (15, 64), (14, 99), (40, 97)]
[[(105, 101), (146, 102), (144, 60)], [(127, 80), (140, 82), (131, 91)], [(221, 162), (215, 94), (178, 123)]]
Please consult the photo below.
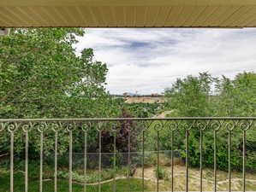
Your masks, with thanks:
[(256, 0), (1, 0), (1, 27), (255, 27)]

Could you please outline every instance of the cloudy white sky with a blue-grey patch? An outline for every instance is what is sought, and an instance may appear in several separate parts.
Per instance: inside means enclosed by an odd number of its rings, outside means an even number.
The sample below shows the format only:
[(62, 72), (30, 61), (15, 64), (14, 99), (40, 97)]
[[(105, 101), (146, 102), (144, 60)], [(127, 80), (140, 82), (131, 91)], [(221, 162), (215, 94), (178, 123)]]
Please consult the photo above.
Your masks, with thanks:
[(107, 63), (111, 94), (161, 93), (199, 72), (256, 71), (256, 29), (86, 29), (76, 47)]

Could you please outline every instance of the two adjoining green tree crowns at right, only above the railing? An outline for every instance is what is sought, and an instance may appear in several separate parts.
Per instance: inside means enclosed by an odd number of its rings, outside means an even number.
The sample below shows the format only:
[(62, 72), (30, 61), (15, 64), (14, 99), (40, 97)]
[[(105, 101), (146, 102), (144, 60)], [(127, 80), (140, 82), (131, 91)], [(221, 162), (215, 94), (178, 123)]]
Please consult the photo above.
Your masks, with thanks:
[(256, 115), (256, 73), (238, 73), (234, 80), (199, 77), (177, 79), (170, 89), (168, 108), (180, 117), (254, 117)]

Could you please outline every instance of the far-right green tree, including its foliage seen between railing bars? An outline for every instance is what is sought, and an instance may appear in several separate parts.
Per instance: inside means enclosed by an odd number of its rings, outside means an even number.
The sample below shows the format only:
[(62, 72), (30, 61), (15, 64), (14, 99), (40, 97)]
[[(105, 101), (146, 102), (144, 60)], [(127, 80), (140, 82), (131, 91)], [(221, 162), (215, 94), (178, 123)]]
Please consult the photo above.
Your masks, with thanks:
[[(234, 80), (223, 76), (218, 80), (217, 114), (223, 117), (255, 117), (256, 116), (256, 73), (238, 73)], [(247, 169), (255, 171), (256, 162), (256, 131), (247, 131)], [(222, 134), (223, 138), (227, 134)], [(242, 132), (233, 131), (233, 161), (235, 167), (241, 169)], [(222, 139), (223, 140), (223, 139)], [(211, 140), (210, 140), (211, 141)], [(220, 142), (224, 150), (223, 141)], [(222, 153), (226, 157), (227, 154)], [(227, 159), (227, 157), (226, 157)]]

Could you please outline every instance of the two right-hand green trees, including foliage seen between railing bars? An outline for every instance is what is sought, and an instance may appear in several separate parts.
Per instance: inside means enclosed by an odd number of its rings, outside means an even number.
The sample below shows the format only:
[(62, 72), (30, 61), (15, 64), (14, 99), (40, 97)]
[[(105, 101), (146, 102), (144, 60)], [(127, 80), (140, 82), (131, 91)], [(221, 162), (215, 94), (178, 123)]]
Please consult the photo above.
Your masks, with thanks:
[[(212, 88), (215, 87), (213, 90)], [(170, 97), (168, 107), (173, 110), (171, 117), (208, 117), (208, 116), (248, 116), (256, 115), (256, 73), (239, 73), (234, 80), (223, 76), (212, 78), (209, 73), (199, 73), (199, 77), (188, 76), (177, 79), (170, 89), (165, 91)], [(231, 122), (232, 123), (232, 122)], [(199, 166), (199, 127), (193, 125), (189, 131), (189, 163)], [(204, 131), (204, 166), (213, 166), (213, 131)], [(247, 170), (256, 171), (256, 131), (247, 131)], [(164, 133), (170, 138), (170, 131)], [(217, 133), (217, 162), (220, 170), (228, 170), (227, 138), (228, 131), (222, 127)], [(184, 150), (185, 132), (176, 133), (176, 149)], [(170, 148), (170, 141), (162, 141), (164, 148)], [(241, 170), (242, 167), (242, 131), (232, 131), (231, 166)], [(185, 156), (185, 154), (183, 154)]]

